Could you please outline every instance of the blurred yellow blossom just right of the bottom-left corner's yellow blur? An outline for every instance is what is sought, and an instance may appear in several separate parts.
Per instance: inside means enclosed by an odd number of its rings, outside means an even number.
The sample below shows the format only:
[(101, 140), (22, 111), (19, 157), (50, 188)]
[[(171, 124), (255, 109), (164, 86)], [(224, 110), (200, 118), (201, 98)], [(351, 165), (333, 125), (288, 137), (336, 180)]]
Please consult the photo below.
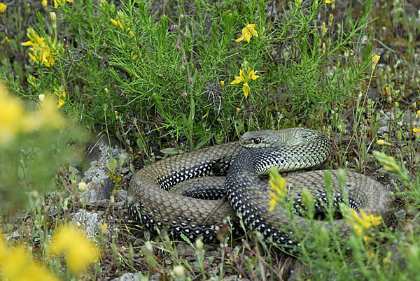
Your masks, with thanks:
[(67, 266), (74, 273), (85, 271), (99, 259), (99, 250), (76, 226), (66, 225), (55, 229), (50, 242), (51, 254), (66, 254)]

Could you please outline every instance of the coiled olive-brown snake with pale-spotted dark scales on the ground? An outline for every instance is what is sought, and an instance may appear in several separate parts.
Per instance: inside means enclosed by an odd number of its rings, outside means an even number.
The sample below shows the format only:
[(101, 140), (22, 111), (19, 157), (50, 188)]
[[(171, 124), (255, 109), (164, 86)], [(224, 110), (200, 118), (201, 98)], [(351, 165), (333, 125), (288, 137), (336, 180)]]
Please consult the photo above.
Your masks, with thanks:
[[(232, 235), (240, 235), (240, 219), (246, 229), (259, 231), (263, 238), (279, 245), (298, 246), (293, 229), (312, 233), (324, 228), (338, 228), (339, 236), (348, 236), (351, 226), (344, 218), (332, 224), (323, 220), (290, 214), (284, 207), (269, 211), (272, 187), (261, 180), (271, 167), (280, 172), (296, 171), (322, 164), (328, 159), (331, 143), (325, 134), (314, 129), (248, 131), (239, 141), (222, 143), (200, 150), (176, 154), (141, 168), (132, 175), (128, 189), (128, 212), (132, 220), (151, 231), (165, 230), (169, 235), (204, 242), (216, 242), (226, 222)], [(331, 194), (325, 185), (330, 176)], [(227, 200), (191, 198), (172, 192), (181, 182), (206, 185), (208, 178), (222, 178), (222, 194)], [(295, 210), (302, 210), (302, 190), (316, 198), (315, 209), (332, 202), (346, 202), (350, 208), (367, 215), (381, 216), (388, 224), (393, 214), (393, 197), (376, 180), (347, 171), (343, 186), (337, 170), (307, 171), (285, 177), (288, 199)], [(220, 181), (220, 180), (219, 180)], [(220, 198), (220, 196), (219, 196)], [(303, 206), (303, 207), (302, 207)]]

